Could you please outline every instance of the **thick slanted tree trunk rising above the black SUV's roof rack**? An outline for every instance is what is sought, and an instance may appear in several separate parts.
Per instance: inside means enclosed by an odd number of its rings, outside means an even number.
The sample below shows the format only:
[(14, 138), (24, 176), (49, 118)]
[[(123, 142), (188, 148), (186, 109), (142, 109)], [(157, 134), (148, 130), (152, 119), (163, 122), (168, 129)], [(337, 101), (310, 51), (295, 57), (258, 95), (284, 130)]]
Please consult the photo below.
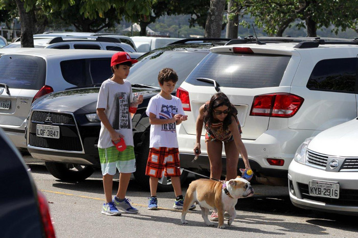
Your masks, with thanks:
[(222, 15), (225, 9), (226, 0), (210, 0), (210, 8), (205, 24), (204, 37), (220, 38)]

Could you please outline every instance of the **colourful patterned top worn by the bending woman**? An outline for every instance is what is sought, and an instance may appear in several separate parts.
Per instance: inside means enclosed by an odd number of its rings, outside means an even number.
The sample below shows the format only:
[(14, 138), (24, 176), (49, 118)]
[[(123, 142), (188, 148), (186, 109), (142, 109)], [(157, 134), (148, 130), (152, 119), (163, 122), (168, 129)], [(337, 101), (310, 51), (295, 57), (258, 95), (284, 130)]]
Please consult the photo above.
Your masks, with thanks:
[[(204, 112), (206, 110), (208, 110), (208, 105), (209, 105), (209, 102), (207, 102), (205, 104)], [(236, 109), (233, 112), (233, 114), (235, 115), (235, 120), (236, 120), (236, 123), (237, 123), (237, 127), (239, 129), (239, 133), (242, 134), (241, 126), (240, 126), (239, 120), (237, 119), (237, 110)], [(204, 121), (204, 129), (206, 130), (205, 142), (208, 142), (208, 141), (229, 142), (229, 141), (234, 140), (232, 132), (229, 129), (224, 131), (223, 126), (222, 126), (222, 122), (212, 123), (210, 128), (209, 128), (208, 127), (208, 122)]]

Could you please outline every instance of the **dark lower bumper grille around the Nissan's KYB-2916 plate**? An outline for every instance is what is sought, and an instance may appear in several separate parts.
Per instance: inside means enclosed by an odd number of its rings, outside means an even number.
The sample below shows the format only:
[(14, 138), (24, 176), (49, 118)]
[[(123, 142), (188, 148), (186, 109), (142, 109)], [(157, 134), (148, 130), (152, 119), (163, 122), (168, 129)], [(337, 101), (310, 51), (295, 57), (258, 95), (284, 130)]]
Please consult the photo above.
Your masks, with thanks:
[(358, 206), (358, 190), (356, 189), (342, 189), (340, 188), (340, 198), (323, 198), (310, 196), (308, 192), (308, 184), (298, 183), (300, 193), (303, 199), (324, 202), (327, 205), (344, 205), (344, 206)]

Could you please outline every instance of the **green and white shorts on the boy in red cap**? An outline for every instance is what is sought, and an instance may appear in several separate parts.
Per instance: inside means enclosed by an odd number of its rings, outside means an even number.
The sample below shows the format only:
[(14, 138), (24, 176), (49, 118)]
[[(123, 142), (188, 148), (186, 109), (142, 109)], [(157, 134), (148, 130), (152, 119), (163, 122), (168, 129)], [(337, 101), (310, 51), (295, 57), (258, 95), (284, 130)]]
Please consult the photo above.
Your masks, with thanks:
[(115, 146), (106, 149), (98, 148), (98, 152), (103, 176), (115, 175), (116, 168), (120, 173), (136, 172), (136, 157), (132, 146), (127, 146), (122, 152), (119, 152)]

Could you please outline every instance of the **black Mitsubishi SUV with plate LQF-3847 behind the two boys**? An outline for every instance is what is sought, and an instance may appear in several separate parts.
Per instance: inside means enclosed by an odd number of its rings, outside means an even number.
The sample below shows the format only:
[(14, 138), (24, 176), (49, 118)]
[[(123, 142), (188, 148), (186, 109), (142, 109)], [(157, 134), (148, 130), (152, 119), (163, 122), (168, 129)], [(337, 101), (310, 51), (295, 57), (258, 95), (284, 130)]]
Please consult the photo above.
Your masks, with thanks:
[[(132, 114), (133, 138), (137, 160), (137, 181), (149, 187), (145, 167), (149, 152), (149, 119), (145, 113), (151, 97), (160, 92), (158, 74), (164, 67), (178, 75), (177, 87), (192, 69), (207, 56), (210, 48), (229, 39), (184, 39), (155, 49), (133, 65), (127, 80), (133, 93), (141, 92), (144, 102)], [(109, 67), (109, 66), (108, 66)], [(99, 166), (98, 137), (100, 121), (96, 114), (100, 84), (51, 93), (33, 105), (28, 117), (27, 146), (34, 158), (46, 161), (50, 173), (62, 180), (82, 180)], [(49, 130), (46, 135), (41, 129)], [(187, 173), (182, 174), (184, 180)], [(163, 177), (158, 189), (172, 189), (170, 178)]]

